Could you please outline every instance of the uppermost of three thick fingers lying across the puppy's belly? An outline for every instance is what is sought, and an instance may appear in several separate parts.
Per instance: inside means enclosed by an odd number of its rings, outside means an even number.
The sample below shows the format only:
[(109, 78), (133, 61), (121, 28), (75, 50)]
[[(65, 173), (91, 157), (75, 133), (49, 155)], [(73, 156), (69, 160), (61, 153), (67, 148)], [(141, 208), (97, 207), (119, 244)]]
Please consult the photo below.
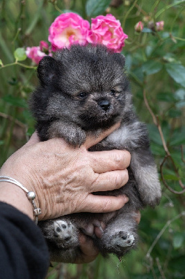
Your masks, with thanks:
[(115, 169), (127, 169), (131, 155), (126, 150), (111, 150), (88, 153), (94, 172), (102, 174)]

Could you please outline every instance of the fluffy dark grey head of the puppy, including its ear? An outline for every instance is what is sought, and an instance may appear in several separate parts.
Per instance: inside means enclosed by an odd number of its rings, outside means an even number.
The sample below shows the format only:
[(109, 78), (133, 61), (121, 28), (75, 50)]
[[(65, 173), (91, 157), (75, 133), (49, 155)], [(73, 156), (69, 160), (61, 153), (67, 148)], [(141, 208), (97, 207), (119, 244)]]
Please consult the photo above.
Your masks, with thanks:
[(51, 118), (72, 121), (84, 130), (108, 128), (122, 119), (128, 82), (124, 57), (102, 46), (82, 47), (47, 56), (38, 76)]

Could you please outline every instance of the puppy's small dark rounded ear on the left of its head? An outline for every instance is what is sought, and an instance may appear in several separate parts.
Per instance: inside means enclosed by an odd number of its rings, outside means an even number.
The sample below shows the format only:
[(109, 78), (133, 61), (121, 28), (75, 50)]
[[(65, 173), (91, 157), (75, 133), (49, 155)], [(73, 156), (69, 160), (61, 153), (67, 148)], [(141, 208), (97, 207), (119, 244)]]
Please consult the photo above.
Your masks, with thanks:
[(51, 56), (44, 56), (38, 65), (38, 78), (42, 84), (49, 84), (58, 75), (58, 62)]

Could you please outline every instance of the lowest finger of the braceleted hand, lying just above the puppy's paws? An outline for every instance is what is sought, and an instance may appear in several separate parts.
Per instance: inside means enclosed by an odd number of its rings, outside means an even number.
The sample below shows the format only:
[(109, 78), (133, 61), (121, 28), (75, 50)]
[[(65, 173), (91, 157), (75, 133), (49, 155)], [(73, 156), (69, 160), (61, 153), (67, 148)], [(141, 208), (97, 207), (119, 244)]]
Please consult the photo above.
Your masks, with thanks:
[(78, 212), (93, 212), (93, 213), (106, 213), (121, 209), (124, 204), (129, 201), (125, 195), (113, 196), (99, 196), (89, 194), (86, 198), (86, 206), (79, 209)]

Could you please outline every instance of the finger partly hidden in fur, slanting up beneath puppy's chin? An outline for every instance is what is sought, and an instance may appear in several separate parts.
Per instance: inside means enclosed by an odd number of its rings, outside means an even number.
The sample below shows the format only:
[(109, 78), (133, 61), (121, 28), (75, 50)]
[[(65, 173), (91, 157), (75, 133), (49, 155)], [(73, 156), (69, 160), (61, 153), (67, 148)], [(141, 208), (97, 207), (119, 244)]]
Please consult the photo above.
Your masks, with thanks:
[(93, 136), (87, 137), (86, 142), (83, 144), (83, 146), (85, 146), (86, 149), (89, 149), (91, 146), (94, 146), (98, 142), (101, 142), (102, 140), (104, 140), (105, 137), (107, 137), (108, 135), (113, 133), (113, 131), (117, 130), (119, 127), (120, 127), (120, 123), (116, 123), (110, 129), (102, 132), (101, 135), (99, 135), (99, 137), (93, 137)]

